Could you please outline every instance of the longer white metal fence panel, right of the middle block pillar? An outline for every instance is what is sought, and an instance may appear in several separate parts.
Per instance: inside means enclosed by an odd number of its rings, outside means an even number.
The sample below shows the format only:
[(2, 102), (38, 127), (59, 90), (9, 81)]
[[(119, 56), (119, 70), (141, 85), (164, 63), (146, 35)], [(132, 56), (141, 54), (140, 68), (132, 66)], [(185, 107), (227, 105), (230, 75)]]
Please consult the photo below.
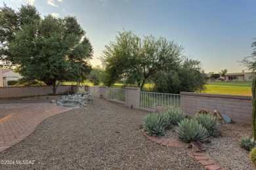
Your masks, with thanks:
[(159, 109), (161, 107), (180, 107), (181, 95), (171, 93), (140, 92), (140, 107)]

